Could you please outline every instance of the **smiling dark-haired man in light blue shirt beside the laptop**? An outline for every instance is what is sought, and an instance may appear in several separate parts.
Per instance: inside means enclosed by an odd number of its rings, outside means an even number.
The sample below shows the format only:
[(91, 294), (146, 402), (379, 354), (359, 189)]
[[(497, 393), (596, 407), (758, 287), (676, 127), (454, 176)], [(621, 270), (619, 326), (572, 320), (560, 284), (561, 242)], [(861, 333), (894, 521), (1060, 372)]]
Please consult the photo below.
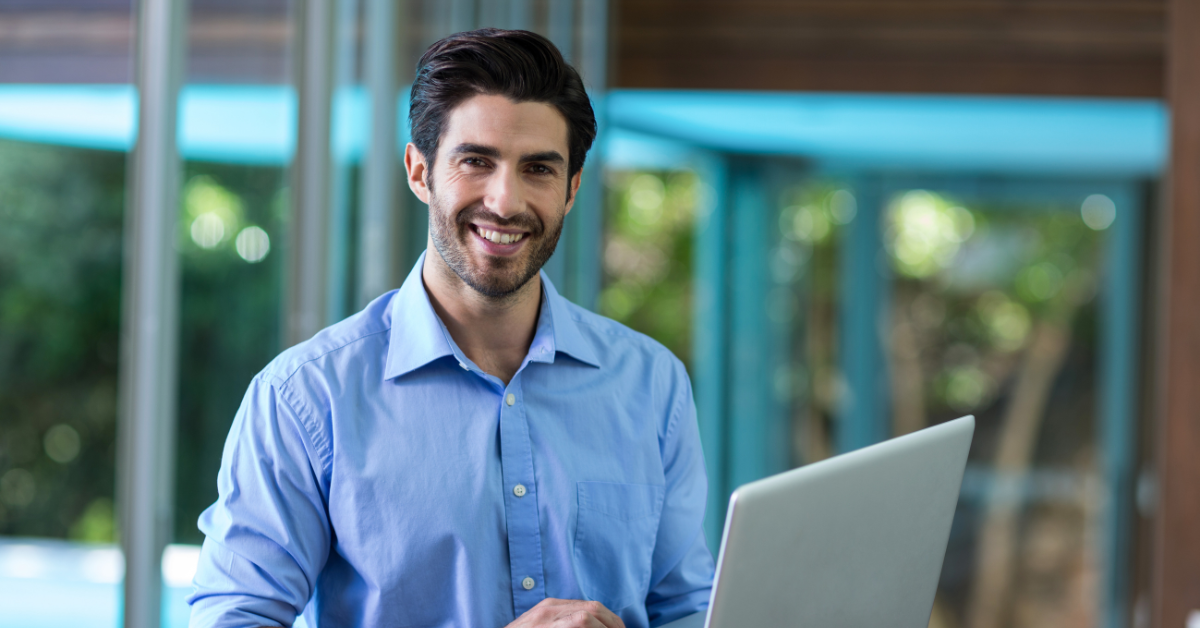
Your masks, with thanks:
[[(434, 43), (404, 165), (403, 286), (275, 359), (226, 443), (192, 626), (658, 626), (712, 555), (688, 376), (539, 273), (595, 119), (545, 38)], [(596, 234), (599, 235), (599, 234)]]

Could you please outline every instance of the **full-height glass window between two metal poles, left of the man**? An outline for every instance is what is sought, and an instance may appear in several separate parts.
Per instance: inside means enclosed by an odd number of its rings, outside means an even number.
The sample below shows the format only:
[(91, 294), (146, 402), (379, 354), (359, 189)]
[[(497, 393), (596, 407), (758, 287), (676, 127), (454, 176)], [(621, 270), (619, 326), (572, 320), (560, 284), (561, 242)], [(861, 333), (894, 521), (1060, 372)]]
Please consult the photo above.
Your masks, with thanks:
[(221, 453), (250, 381), (282, 346), (295, 145), (287, 0), (192, 2), (180, 94), (176, 250), (179, 400), (173, 545), (164, 608), (186, 626)]

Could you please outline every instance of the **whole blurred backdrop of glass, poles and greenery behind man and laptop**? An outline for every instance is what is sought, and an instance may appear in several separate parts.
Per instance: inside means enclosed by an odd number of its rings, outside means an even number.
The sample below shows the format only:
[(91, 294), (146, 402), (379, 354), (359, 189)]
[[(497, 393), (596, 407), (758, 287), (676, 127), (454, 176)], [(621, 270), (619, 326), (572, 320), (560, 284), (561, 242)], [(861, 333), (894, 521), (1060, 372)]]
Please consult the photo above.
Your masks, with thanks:
[(686, 364), (714, 551), (974, 414), (930, 627), (1200, 626), (1192, 5), (0, 0), (0, 627), (186, 626), (246, 385), (420, 255), (408, 84), (479, 26), (588, 84), (546, 270)]

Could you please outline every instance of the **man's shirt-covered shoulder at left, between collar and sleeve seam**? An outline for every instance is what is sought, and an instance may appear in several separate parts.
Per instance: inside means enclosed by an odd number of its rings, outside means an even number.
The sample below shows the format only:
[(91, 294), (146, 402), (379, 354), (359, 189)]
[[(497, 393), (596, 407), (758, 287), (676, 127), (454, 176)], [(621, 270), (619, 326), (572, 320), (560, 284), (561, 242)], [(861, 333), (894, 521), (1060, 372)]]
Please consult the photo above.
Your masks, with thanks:
[(353, 363), (382, 359), (391, 330), (390, 305), (395, 293), (392, 291), (378, 297), (358, 313), (284, 349), (259, 376), (282, 385), (298, 376), (336, 376)]

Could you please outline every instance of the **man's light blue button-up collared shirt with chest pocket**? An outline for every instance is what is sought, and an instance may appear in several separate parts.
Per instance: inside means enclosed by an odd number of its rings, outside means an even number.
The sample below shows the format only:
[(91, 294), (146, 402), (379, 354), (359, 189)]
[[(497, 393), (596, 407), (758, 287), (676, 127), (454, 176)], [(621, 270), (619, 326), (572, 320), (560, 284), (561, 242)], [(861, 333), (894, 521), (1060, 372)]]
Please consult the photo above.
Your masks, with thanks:
[(500, 628), (547, 597), (630, 628), (708, 604), (707, 479), (688, 375), (541, 275), (509, 385), (421, 281), (250, 385), (200, 515), (193, 627)]

